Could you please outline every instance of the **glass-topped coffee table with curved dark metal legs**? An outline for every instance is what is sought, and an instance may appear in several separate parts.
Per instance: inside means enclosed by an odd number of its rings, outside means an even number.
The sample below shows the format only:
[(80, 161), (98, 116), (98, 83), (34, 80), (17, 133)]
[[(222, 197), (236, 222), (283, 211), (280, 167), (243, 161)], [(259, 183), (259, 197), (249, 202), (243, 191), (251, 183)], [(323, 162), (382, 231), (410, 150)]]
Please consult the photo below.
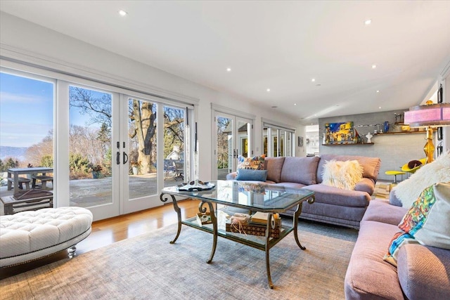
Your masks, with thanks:
[[(174, 209), (178, 215), (178, 231), (174, 240), (170, 243), (174, 244), (181, 233), (181, 224), (191, 226), (199, 230), (212, 233), (213, 242), (210, 258), (207, 263), (211, 263), (217, 246), (217, 237), (224, 237), (234, 242), (246, 244), (250, 247), (263, 250), (266, 254), (266, 271), (269, 287), (274, 288), (270, 275), (269, 266), (269, 250), (274, 247), (278, 242), (288, 235), (291, 231), (294, 231), (295, 242), (298, 247), (304, 250), (305, 247), (300, 244), (297, 233), (298, 217), (302, 212), (303, 202), (309, 204), (314, 203), (314, 192), (303, 188), (288, 188), (281, 185), (266, 185), (259, 183), (247, 183), (243, 181), (210, 181), (208, 183), (210, 187), (214, 185), (211, 190), (192, 190), (181, 191), (178, 187), (172, 186), (162, 189), (160, 200), (167, 202), (169, 196), (172, 198)], [(181, 220), (181, 209), (176, 204), (177, 199), (181, 197), (193, 198), (200, 200), (198, 210), (200, 214), (204, 214), (207, 211), (205, 204), (209, 208), (210, 223), (201, 223), (198, 220), (198, 216)], [(291, 225), (281, 225), (278, 230), (278, 237), (271, 237), (271, 233), (276, 227), (273, 215), (276, 213), (283, 213), (289, 209), (295, 209), (293, 216), (293, 223)], [(262, 211), (267, 213), (266, 230), (264, 230), (264, 236), (250, 235), (243, 233), (233, 233), (226, 230), (226, 214), (224, 210), (229, 209), (245, 209), (245, 211)]]

